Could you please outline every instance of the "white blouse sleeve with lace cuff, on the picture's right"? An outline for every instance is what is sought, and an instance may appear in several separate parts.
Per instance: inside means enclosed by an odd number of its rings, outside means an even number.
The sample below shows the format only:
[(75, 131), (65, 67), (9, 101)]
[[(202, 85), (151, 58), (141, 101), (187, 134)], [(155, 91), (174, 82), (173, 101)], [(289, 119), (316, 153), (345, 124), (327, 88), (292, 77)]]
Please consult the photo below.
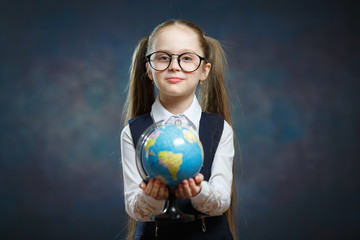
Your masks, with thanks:
[(232, 166), (234, 159), (234, 139), (231, 126), (225, 121), (224, 130), (214, 156), (209, 181), (202, 182), (200, 193), (191, 198), (198, 211), (211, 215), (221, 215), (230, 206)]

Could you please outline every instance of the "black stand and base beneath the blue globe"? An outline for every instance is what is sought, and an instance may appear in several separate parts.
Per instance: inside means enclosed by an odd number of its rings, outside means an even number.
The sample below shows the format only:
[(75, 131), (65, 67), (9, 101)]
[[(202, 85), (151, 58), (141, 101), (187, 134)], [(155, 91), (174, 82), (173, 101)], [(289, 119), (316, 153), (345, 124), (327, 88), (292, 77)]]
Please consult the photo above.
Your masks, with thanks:
[(181, 212), (177, 206), (175, 197), (175, 187), (169, 187), (169, 199), (165, 211), (159, 215), (151, 217), (152, 221), (156, 222), (191, 222), (195, 220), (194, 215), (189, 215)]

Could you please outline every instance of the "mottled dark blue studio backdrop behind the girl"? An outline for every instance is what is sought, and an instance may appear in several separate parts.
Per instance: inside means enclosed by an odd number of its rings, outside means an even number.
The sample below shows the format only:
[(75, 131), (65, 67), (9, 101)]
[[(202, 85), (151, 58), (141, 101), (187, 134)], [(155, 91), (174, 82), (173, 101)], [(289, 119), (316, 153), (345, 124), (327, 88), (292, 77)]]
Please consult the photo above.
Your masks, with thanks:
[(118, 0), (0, 3), (0, 238), (123, 238), (130, 59), (170, 18), (228, 54), (241, 239), (359, 237), (355, 4)]

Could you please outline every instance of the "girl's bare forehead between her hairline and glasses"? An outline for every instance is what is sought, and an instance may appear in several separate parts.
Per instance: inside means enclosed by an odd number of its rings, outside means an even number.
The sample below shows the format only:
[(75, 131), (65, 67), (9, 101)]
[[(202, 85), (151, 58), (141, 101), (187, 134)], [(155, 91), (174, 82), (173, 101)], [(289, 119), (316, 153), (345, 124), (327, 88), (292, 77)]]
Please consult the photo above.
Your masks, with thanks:
[(183, 26), (172, 26), (158, 32), (154, 37), (152, 49), (154, 51), (168, 51), (169, 53), (188, 50), (196, 53), (203, 52), (196, 32)]

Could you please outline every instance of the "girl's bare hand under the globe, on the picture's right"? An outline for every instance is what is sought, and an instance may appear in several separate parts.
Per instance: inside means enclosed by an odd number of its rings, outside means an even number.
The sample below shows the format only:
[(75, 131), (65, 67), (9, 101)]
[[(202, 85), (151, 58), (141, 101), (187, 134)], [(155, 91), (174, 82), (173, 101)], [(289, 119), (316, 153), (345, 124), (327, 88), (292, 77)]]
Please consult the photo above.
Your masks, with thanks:
[(201, 191), (201, 182), (204, 175), (198, 173), (194, 178), (184, 180), (175, 189), (175, 196), (179, 199), (191, 198), (198, 195)]

